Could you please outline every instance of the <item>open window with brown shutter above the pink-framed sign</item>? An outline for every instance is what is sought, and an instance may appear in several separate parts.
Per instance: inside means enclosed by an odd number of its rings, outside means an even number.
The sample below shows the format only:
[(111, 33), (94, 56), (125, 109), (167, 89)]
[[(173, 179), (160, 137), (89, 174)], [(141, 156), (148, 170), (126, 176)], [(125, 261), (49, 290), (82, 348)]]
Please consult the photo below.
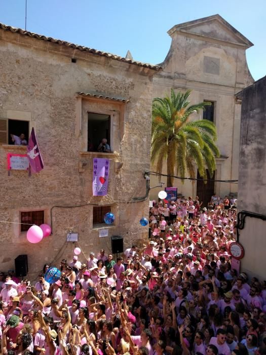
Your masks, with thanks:
[(10, 134), (18, 137), (24, 134), (24, 139), (28, 142), (29, 121), (0, 118), (0, 144), (14, 145)]

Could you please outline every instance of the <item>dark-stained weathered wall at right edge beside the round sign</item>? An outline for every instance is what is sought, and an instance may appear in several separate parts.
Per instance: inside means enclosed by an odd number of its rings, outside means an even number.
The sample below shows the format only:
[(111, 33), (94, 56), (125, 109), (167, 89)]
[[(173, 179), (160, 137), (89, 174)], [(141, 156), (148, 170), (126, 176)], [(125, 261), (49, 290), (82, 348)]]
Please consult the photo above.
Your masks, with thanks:
[[(266, 216), (266, 77), (241, 93), (238, 211)], [(239, 241), (245, 249), (241, 270), (265, 278), (266, 221), (246, 217)]]

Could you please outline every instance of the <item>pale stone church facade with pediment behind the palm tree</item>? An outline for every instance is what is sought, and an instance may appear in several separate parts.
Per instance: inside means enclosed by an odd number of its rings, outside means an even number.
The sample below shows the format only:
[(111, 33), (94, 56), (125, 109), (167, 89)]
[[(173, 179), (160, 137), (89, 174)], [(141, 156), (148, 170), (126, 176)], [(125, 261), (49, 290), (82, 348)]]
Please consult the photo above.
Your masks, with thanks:
[[(235, 94), (253, 82), (246, 62), (246, 50), (253, 44), (219, 15), (178, 24), (168, 34), (172, 43), (160, 64), (163, 70), (154, 78), (153, 95), (163, 97), (171, 88), (191, 89), (192, 103), (212, 102), (208, 119), (217, 127), (220, 150), (215, 179), (237, 180), (241, 106)], [(203, 113), (193, 117), (202, 118)], [(162, 181), (166, 182), (166, 177)], [(158, 185), (158, 178), (152, 177), (150, 185)], [(205, 203), (214, 191), (222, 197), (237, 192), (237, 184), (218, 182), (193, 185), (186, 181), (182, 185), (175, 180), (174, 186), (178, 187), (178, 193), (199, 195)], [(151, 190), (151, 199), (156, 199), (160, 190)]]

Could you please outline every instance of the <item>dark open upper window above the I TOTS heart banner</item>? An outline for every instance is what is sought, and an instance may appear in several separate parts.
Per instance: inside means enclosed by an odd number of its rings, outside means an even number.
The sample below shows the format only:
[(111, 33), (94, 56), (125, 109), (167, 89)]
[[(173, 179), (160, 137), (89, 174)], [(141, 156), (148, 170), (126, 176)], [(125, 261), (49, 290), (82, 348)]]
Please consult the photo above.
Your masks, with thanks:
[(110, 116), (88, 113), (88, 152), (97, 152), (103, 138), (110, 146)]

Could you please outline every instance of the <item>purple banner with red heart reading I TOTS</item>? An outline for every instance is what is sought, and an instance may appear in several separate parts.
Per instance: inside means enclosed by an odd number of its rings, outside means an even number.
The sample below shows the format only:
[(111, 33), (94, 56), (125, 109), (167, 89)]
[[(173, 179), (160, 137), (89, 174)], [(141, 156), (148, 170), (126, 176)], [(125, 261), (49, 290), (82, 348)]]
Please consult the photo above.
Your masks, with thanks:
[(92, 180), (93, 196), (107, 195), (108, 177), (109, 177), (109, 159), (94, 158), (93, 159), (93, 180)]

